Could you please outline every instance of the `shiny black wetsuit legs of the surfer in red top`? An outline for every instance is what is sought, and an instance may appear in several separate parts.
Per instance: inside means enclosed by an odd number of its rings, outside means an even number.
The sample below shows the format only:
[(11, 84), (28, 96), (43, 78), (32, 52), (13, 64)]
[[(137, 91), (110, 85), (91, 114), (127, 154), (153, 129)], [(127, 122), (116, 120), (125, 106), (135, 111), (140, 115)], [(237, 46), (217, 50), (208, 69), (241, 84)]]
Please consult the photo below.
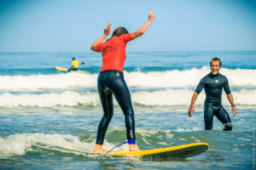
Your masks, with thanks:
[(98, 127), (96, 144), (103, 144), (108, 124), (113, 116), (113, 95), (125, 115), (128, 142), (129, 144), (135, 144), (134, 111), (131, 105), (131, 95), (123, 73), (115, 70), (100, 72), (98, 76), (98, 92), (104, 113)]

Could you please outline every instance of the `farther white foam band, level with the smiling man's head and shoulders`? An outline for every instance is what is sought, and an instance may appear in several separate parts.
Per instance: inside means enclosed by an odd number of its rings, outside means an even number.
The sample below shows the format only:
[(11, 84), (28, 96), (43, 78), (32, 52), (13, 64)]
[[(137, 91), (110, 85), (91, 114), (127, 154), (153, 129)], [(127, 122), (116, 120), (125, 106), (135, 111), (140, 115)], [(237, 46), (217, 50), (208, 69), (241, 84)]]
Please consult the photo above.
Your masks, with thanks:
[[(185, 71), (125, 72), (129, 87), (139, 88), (195, 88), (208, 67)], [(256, 70), (222, 69), (231, 87), (256, 87)], [(44, 90), (68, 88), (96, 88), (97, 74), (67, 73), (58, 75), (0, 76), (0, 91)]]

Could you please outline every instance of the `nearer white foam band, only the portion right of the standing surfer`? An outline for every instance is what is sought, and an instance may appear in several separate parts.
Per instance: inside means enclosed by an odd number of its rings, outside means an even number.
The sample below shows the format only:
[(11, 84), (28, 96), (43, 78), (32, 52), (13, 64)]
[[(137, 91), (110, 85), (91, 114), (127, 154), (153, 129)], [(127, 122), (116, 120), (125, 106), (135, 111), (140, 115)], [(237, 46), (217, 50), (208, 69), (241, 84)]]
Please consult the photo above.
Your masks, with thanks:
[[(189, 89), (164, 90), (154, 92), (137, 92), (131, 94), (134, 103), (139, 105), (189, 105), (194, 91)], [(256, 105), (256, 90), (233, 91), (236, 105)], [(203, 105), (206, 94), (199, 94), (196, 105)], [(223, 105), (230, 105), (225, 93), (222, 94)]]

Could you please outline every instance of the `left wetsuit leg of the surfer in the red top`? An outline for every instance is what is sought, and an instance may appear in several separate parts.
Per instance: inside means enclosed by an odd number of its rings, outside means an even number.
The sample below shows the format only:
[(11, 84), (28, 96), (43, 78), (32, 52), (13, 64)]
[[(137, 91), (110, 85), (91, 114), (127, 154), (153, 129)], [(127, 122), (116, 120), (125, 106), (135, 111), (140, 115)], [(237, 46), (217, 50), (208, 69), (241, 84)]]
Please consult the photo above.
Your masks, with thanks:
[(103, 144), (109, 122), (113, 117), (113, 94), (108, 88), (104, 88), (99, 84), (98, 92), (102, 103), (103, 116), (98, 127), (96, 144)]

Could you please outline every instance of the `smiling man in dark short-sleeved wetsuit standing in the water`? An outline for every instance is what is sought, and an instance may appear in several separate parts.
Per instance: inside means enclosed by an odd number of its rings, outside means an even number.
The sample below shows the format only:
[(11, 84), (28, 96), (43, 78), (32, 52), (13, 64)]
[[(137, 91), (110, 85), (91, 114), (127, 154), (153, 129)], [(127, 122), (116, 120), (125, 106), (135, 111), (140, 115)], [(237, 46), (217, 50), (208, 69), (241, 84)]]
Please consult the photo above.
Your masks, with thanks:
[(230, 116), (224, 107), (221, 105), (221, 93), (222, 88), (224, 88), (227, 98), (230, 101), (233, 116), (236, 116), (236, 105), (234, 104), (233, 95), (230, 92), (229, 82), (226, 77), (219, 74), (218, 71), (221, 68), (221, 61), (218, 58), (213, 58), (210, 62), (211, 72), (203, 77), (195, 93), (192, 96), (191, 104), (189, 107), (188, 115), (192, 116), (192, 112), (195, 114), (194, 104), (197, 99), (198, 94), (201, 92), (202, 88), (205, 88), (207, 98), (204, 104), (204, 119), (205, 119), (205, 129), (212, 129), (213, 116), (216, 116), (220, 122), (224, 124), (224, 131), (232, 130), (232, 122), (230, 121)]

